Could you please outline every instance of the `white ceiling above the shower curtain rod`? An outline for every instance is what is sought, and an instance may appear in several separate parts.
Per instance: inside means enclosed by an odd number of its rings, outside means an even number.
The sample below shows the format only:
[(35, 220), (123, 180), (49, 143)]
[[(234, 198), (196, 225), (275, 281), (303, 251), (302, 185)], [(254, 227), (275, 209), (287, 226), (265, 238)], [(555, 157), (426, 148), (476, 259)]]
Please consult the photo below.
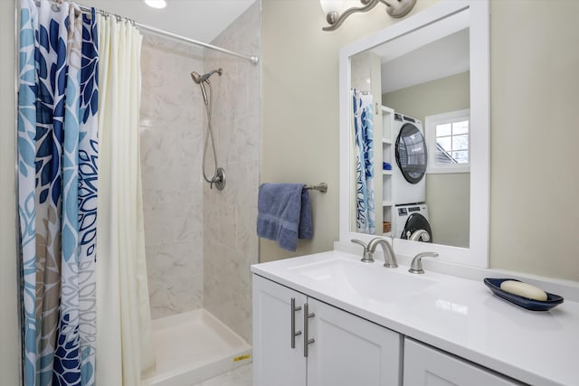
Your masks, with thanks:
[(256, 0), (166, 0), (163, 9), (143, 0), (79, 0), (79, 4), (119, 14), (199, 42), (212, 42)]

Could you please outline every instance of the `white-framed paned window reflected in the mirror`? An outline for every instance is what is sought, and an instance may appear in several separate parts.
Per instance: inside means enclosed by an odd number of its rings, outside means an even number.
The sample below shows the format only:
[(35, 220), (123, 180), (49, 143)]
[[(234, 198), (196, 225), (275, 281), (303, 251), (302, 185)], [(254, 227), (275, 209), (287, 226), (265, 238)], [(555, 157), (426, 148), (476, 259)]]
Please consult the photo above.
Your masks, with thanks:
[(466, 173), (470, 169), (469, 110), (429, 116), (425, 119), (431, 159), (427, 173)]

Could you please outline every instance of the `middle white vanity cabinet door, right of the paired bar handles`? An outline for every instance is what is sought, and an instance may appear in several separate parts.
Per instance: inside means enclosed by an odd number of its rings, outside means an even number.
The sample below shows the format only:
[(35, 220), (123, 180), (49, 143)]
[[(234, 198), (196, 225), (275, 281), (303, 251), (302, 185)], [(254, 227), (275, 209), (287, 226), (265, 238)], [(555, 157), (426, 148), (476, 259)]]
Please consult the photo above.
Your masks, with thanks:
[(398, 386), (402, 335), (308, 297), (308, 386)]

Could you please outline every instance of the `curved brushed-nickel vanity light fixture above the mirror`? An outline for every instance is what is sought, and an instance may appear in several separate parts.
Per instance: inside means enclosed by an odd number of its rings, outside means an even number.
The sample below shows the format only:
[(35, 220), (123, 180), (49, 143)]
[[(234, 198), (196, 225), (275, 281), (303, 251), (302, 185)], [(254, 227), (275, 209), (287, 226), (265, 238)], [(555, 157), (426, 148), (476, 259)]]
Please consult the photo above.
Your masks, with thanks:
[(416, 0), (359, 0), (362, 6), (354, 6), (343, 10), (346, 1), (345, 0), (319, 0), (319, 4), (326, 14), (327, 26), (323, 27), (324, 31), (334, 31), (336, 30), (344, 20), (350, 15), (356, 12), (368, 12), (375, 7), (378, 3), (383, 3), (386, 5), (386, 13), (394, 18), (400, 18), (408, 14), (413, 6), (416, 4)]

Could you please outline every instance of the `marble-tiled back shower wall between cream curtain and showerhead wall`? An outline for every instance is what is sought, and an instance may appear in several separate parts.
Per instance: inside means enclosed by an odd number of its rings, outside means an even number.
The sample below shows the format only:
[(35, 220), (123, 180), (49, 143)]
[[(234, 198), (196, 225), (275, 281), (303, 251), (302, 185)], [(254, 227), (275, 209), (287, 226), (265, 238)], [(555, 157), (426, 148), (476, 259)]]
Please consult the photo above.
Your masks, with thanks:
[(145, 35), (141, 168), (153, 319), (203, 306), (203, 99), (190, 72), (203, 51)]

